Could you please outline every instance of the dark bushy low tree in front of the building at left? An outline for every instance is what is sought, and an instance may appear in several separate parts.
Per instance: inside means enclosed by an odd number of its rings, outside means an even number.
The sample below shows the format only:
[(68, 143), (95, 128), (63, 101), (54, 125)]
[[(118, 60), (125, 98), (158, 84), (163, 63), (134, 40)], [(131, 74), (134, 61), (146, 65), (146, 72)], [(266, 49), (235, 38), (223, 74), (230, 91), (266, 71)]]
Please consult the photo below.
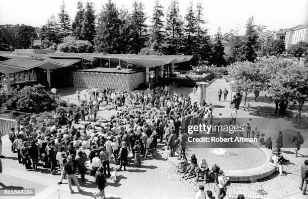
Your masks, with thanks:
[(38, 113), (41, 110), (52, 109), (54, 99), (46, 92), (41, 84), (25, 86), (20, 90), (14, 89), (9, 92), (9, 98), (2, 104), (1, 110)]

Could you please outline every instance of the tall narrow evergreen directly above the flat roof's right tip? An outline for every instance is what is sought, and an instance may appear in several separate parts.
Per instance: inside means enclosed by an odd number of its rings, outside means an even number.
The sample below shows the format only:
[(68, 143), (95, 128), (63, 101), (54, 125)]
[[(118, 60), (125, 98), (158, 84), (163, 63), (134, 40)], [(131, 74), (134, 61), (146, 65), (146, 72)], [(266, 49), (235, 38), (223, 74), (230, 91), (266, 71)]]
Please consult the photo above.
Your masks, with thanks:
[(184, 26), (183, 53), (186, 55), (193, 55), (197, 51), (197, 43), (196, 43), (197, 21), (192, 1), (189, 4), (184, 19), (185, 19), (185, 26)]

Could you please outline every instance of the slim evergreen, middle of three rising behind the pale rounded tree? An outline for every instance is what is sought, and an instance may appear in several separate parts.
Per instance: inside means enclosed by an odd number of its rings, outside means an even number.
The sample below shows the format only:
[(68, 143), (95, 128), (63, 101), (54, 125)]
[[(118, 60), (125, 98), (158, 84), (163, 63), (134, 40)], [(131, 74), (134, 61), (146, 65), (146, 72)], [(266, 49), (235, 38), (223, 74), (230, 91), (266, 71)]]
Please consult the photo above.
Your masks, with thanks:
[(84, 13), (85, 13), (85, 9), (84, 9), (83, 1), (79, 0), (78, 3), (77, 3), (76, 16), (75, 16), (75, 19), (72, 23), (72, 34), (78, 40), (84, 39), (83, 34), (82, 34)]

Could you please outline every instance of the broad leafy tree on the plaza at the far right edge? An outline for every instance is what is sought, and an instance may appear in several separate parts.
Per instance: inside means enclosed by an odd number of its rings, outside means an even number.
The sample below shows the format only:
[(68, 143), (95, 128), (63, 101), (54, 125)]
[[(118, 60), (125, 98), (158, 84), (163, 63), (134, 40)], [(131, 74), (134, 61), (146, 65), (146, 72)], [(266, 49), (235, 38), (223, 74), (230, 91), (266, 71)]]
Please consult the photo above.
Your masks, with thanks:
[(273, 99), (297, 101), (298, 115), (301, 116), (302, 105), (308, 97), (308, 73), (299, 64), (288, 64), (276, 68), (275, 76), (270, 80), (268, 93)]

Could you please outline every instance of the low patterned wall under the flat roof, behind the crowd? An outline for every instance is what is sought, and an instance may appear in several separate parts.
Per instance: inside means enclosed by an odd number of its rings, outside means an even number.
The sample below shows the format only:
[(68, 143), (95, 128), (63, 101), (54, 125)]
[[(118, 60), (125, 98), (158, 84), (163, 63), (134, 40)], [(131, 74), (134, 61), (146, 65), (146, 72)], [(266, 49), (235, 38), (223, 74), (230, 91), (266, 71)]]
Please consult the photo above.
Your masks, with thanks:
[(137, 73), (104, 73), (104, 72), (72, 72), (73, 86), (80, 88), (100, 87), (115, 90), (134, 90), (145, 81), (145, 72)]

